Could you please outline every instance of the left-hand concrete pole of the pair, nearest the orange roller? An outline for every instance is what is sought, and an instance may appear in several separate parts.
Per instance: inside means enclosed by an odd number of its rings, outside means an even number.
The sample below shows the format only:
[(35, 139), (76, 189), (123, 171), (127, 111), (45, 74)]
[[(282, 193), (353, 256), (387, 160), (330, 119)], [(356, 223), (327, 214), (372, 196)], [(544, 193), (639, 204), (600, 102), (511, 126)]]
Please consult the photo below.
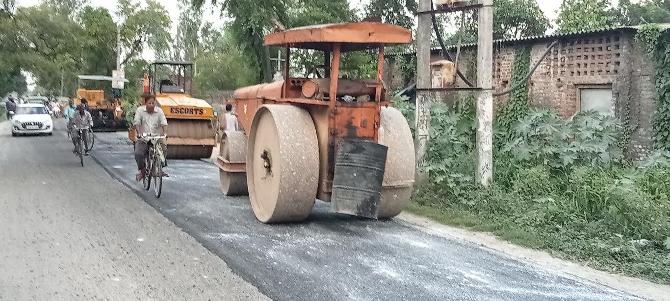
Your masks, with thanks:
[[(433, 1), (419, 0), (419, 11), (430, 11), (433, 9)], [(416, 152), (417, 167), (425, 167), (426, 152), (428, 148), (430, 129), (430, 37), (431, 37), (430, 15), (419, 15), (417, 24), (417, 98), (415, 111), (416, 138), (414, 148)]]

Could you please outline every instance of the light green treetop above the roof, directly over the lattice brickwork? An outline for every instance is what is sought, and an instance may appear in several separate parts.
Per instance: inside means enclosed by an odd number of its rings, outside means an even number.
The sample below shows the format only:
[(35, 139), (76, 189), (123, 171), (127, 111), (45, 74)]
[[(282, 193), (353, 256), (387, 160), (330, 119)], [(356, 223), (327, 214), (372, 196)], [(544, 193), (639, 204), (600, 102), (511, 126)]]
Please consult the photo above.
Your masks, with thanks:
[(608, 0), (563, 0), (556, 19), (559, 32), (599, 29), (616, 25)]

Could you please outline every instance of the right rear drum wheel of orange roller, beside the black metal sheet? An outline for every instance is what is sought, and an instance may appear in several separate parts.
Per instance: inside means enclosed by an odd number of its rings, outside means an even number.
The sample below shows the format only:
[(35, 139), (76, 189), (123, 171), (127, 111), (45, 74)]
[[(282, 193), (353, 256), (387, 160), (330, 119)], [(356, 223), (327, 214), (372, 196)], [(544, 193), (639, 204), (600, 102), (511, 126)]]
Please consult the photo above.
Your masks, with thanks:
[(414, 184), (414, 141), (407, 120), (396, 108), (381, 108), (379, 144), (389, 147), (378, 213), (379, 219), (385, 219), (405, 209)]

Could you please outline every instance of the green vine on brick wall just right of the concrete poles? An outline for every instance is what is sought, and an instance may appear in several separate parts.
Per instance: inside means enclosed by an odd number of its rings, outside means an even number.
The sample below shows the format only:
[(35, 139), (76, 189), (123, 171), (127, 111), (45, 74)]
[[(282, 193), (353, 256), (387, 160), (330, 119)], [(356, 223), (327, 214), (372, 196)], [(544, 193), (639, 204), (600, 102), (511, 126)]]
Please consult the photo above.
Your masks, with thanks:
[[(510, 85), (512, 86), (517, 84), (517, 82), (521, 82), (526, 74), (528, 74), (530, 68), (531, 47), (524, 46), (517, 48), (514, 56)], [(519, 119), (526, 116), (529, 111), (529, 103), (528, 82), (523, 83), (517, 90), (514, 90), (509, 94), (507, 104), (500, 108), (498, 116), (496, 117), (496, 126), (505, 134), (505, 138), (509, 136), (506, 133), (511, 131), (512, 126), (517, 123)]]

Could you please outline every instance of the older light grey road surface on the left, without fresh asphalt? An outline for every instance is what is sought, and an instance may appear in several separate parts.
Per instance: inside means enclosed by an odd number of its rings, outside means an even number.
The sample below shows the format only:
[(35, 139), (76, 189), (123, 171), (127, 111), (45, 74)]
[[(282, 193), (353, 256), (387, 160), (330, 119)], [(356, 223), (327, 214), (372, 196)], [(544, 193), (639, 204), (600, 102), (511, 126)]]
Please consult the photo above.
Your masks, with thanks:
[(0, 122), (0, 300), (269, 300), (71, 148)]

